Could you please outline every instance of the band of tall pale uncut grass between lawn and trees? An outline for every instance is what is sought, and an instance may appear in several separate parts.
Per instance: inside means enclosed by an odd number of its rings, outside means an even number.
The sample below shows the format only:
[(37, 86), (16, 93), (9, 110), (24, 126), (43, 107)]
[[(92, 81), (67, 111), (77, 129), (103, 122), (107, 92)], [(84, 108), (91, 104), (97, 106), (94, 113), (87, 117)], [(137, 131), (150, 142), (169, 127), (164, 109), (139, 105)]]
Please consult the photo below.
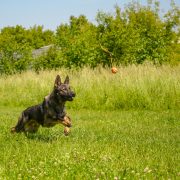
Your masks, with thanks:
[(68, 108), (90, 109), (176, 109), (180, 108), (180, 66), (151, 64), (119, 66), (118, 73), (99, 66), (80, 70), (27, 71), (0, 76), (0, 104), (28, 107), (39, 104), (53, 89), (55, 77), (70, 77), (76, 92)]

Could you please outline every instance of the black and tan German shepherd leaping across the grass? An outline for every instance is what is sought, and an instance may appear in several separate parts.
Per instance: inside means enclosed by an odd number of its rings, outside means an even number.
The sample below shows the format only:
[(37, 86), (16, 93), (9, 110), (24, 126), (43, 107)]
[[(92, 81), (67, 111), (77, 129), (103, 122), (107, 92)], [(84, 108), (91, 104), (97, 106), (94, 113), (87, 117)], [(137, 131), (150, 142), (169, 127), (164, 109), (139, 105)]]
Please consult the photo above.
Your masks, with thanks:
[(64, 133), (67, 136), (72, 124), (66, 113), (65, 103), (73, 101), (75, 95), (69, 86), (69, 76), (67, 75), (64, 83), (61, 83), (61, 78), (57, 75), (52, 92), (44, 98), (41, 104), (28, 107), (23, 111), (10, 134), (24, 132), (27, 135), (27, 132), (37, 132), (40, 125), (52, 127), (60, 123), (65, 126)]

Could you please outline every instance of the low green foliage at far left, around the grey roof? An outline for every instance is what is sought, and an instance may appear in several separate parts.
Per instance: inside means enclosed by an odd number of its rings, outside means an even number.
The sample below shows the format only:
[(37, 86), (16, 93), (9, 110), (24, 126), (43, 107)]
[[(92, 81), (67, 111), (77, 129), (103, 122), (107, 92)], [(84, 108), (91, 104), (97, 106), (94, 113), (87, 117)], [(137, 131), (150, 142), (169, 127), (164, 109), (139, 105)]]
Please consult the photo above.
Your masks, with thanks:
[(53, 43), (53, 31), (43, 26), (25, 30), (22, 26), (5, 27), (0, 34), (0, 72), (12, 74), (32, 68), (32, 49)]

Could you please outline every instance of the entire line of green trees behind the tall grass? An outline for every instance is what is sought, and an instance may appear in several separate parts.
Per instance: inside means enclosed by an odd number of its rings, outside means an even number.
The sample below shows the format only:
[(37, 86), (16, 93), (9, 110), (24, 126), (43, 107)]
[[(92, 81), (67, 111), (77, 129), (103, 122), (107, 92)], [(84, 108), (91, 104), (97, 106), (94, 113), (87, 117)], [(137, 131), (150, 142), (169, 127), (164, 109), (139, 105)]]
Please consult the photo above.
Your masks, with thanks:
[[(27, 69), (57, 69), (62, 66), (79, 68), (111, 66), (108, 53), (116, 64), (153, 64), (180, 62), (180, 10), (171, 1), (170, 9), (162, 15), (160, 2), (140, 5), (133, 1), (124, 10), (116, 4), (113, 13), (98, 11), (97, 25), (84, 15), (71, 16), (69, 23), (61, 24), (56, 32), (43, 26), (26, 30), (22, 26), (5, 27), (0, 34), (1, 73), (22, 72)], [(36, 58), (32, 49), (52, 45)]]

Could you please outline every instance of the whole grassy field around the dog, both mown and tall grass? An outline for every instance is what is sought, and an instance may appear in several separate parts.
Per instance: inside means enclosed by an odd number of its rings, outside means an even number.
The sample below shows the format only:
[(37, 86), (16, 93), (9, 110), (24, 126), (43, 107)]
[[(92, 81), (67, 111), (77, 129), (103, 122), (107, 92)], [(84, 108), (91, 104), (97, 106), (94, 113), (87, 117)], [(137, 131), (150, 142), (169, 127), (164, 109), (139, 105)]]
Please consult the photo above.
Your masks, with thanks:
[[(180, 67), (61, 69), (0, 77), (0, 179), (180, 178)], [(9, 136), (20, 113), (43, 101), (55, 76), (77, 93), (73, 127)]]

